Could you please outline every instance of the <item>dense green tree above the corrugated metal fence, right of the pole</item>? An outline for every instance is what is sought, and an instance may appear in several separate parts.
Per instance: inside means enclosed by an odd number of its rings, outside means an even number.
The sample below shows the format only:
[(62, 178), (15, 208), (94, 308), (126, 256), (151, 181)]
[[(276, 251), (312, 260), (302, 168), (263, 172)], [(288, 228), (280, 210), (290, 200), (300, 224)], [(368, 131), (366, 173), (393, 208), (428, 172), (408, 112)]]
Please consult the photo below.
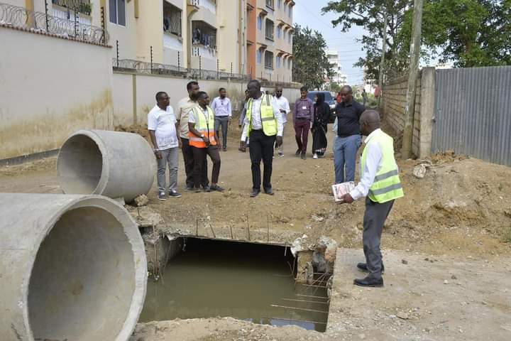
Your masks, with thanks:
[[(404, 33), (412, 26), (407, 15)], [(456, 67), (511, 65), (511, 0), (428, 0), (423, 45)], [(406, 39), (407, 34), (402, 35)]]

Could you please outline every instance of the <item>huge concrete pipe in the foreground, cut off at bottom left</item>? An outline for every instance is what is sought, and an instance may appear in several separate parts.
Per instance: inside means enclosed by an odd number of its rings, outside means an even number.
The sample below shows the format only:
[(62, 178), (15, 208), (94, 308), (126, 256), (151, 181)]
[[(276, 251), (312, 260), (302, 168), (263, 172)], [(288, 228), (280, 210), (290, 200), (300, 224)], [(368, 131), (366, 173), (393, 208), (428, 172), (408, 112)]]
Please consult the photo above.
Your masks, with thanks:
[(0, 217), (0, 340), (128, 340), (147, 264), (119, 203), (1, 193)]

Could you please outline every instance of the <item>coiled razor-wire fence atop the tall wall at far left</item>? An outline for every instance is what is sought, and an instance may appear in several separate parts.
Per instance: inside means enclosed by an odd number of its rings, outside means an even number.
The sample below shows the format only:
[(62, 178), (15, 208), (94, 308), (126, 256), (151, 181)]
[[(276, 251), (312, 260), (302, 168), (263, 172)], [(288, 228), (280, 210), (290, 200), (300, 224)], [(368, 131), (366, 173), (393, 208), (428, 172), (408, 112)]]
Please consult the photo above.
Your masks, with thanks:
[(2, 3), (0, 3), (0, 24), (50, 33), (62, 38), (74, 38), (87, 43), (106, 45), (109, 41), (109, 35), (103, 28)]

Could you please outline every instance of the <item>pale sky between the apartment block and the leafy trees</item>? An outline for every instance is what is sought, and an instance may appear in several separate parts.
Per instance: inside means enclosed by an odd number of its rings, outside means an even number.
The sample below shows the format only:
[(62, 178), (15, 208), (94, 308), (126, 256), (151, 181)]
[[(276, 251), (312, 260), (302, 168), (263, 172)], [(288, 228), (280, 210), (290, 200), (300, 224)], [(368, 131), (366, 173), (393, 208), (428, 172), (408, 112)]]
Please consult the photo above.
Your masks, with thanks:
[(309, 26), (315, 31), (322, 33), (329, 50), (338, 50), (339, 59), (343, 67), (343, 73), (348, 77), (349, 85), (363, 84), (363, 70), (361, 67), (353, 67), (358, 58), (366, 53), (361, 49), (362, 45), (357, 38), (362, 38), (363, 28), (352, 27), (350, 31), (342, 33), (338, 27), (334, 28), (331, 21), (336, 19), (335, 13), (322, 15), (321, 9), (326, 6), (328, 0), (295, 0), (293, 20), (300, 26)]

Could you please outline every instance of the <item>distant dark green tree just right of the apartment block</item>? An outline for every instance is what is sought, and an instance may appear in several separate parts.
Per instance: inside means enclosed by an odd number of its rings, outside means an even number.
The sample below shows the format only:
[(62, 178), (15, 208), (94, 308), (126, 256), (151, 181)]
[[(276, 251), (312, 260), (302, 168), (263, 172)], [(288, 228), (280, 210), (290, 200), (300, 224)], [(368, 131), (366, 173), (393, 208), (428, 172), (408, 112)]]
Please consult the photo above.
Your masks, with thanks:
[(320, 89), (325, 77), (333, 71), (326, 58), (326, 41), (321, 33), (308, 27), (295, 26), (293, 35), (293, 80), (309, 89)]

